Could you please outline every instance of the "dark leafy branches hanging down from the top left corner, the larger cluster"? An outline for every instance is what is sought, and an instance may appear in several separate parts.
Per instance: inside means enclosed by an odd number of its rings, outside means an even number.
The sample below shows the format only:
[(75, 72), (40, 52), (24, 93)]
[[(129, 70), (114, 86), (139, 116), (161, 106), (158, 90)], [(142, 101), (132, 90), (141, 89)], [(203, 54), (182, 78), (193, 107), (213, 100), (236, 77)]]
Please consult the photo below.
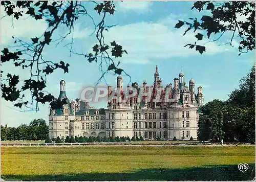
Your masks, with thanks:
[[(126, 74), (122, 69), (118, 68), (119, 63), (116, 63), (113, 58), (122, 57), (123, 53), (127, 52), (122, 49), (122, 46), (117, 44), (116, 41), (106, 43), (104, 41), (104, 32), (112, 26), (105, 25), (105, 18), (108, 15), (114, 15), (115, 5), (113, 2), (105, 1), (100, 4), (94, 3), (94, 10), (101, 16), (98, 24), (95, 24), (94, 18), (89, 14), (89, 10), (83, 3), (78, 1), (2, 1), (1, 5), (5, 8), (5, 16), (19, 19), (23, 15), (29, 15), (35, 21), (46, 20), (48, 29), (42, 30), (39, 37), (31, 37), (31, 41), (27, 42), (23, 39), (18, 39), (13, 36), (13, 46), (6, 47), (2, 50), (1, 62), (13, 61), (13, 66), (20, 67), (20, 69), (27, 70), (30, 73), (28, 78), (22, 78), (24, 84), (20, 83), (19, 75), (11, 75), (6, 73), (1, 82), (2, 97), (6, 101), (15, 102), (14, 106), (22, 108), (23, 106), (30, 107), (38, 111), (38, 104), (45, 104), (46, 102), (56, 101), (54, 96), (46, 94), (46, 78), (55, 70), (61, 69), (64, 73), (69, 72), (69, 63), (63, 61), (54, 62), (53, 60), (45, 60), (42, 56), (47, 45), (58, 46), (68, 35), (73, 36), (74, 23), (81, 17), (89, 17), (95, 25), (96, 40), (98, 41), (93, 46), (92, 53), (83, 54), (73, 50), (73, 37), (70, 43), (64, 46), (68, 48), (70, 56), (73, 54), (80, 55), (87, 59), (88, 62), (99, 63), (99, 70), (102, 76), (110, 72), (120, 75)], [(95, 17), (97, 18), (97, 17)], [(56, 33), (58, 30), (66, 27), (66, 34), (59, 35)], [(111, 52), (111, 54), (110, 54)], [(27, 56), (29, 55), (29, 56)], [(106, 62), (107, 66), (102, 66)], [(4, 72), (1, 71), (1, 75)], [(21, 85), (21, 86), (20, 86)], [(32, 102), (27, 96), (27, 91), (30, 91)], [(61, 107), (59, 107), (61, 108)]]

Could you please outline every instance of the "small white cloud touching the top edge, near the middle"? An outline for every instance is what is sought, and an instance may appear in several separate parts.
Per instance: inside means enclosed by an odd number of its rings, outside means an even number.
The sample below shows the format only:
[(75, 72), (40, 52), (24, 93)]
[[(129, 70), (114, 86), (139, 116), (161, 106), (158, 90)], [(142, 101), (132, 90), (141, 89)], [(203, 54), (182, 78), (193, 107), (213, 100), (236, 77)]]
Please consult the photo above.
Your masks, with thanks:
[(126, 11), (135, 11), (138, 13), (144, 13), (150, 11), (150, 7), (153, 2), (150, 1), (122, 1), (118, 2), (119, 8), (117, 10), (126, 12)]

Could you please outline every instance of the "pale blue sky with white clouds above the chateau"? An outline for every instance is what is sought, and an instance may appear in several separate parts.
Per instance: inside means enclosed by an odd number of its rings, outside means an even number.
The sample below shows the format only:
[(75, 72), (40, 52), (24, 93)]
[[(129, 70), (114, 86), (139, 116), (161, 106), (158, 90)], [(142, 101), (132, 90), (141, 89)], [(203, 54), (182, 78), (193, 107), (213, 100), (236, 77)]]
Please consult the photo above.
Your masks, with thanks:
[[(94, 4), (82, 2), (89, 9), (89, 13), (95, 17), (97, 23), (100, 16), (94, 12)], [(238, 81), (251, 69), (255, 60), (255, 51), (238, 56), (238, 50), (229, 45), (219, 46), (225, 43), (229, 36), (226, 34), (219, 42), (207, 43), (206, 53), (200, 55), (195, 50), (184, 48), (187, 43), (195, 42), (193, 32), (183, 36), (184, 29), (175, 29), (178, 19), (188, 20), (189, 17), (200, 17), (202, 13), (190, 10), (193, 2), (115, 2), (116, 12), (114, 16), (106, 18), (106, 24), (117, 25), (105, 33), (106, 41), (116, 40), (128, 52), (118, 59), (120, 67), (137, 80), (139, 84), (147, 80), (147, 84), (153, 84), (155, 66), (158, 65), (160, 78), (163, 84), (173, 83), (181, 71), (185, 74), (185, 80), (193, 79), (196, 86), (203, 87), (205, 103), (213, 99), (226, 100), (228, 94), (238, 87)], [(240, 17), (243, 18), (243, 17)], [(80, 17), (75, 24), (74, 49), (84, 53), (91, 51), (96, 43), (93, 33), (92, 21), (88, 17)], [(41, 35), (46, 29), (44, 21), (35, 21), (31, 18), (15, 21), (14, 28), (8, 17), (2, 19), (1, 46), (12, 44), (12, 35), (24, 40)], [(64, 30), (64, 31), (63, 31)], [(65, 29), (58, 34), (65, 33)], [(57, 35), (57, 34), (56, 34)], [(91, 35), (91, 36), (90, 36)], [(69, 74), (63, 71), (55, 71), (47, 78), (47, 90), (58, 96), (59, 81), (66, 81), (66, 91), (69, 99), (78, 98), (79, 90), (85, 85), (93, 85), (100, 77), (98, 63), (89, 63), (82, 56), (72, 55), (69, 57), (67, 48), (63, 45), (69, 43), (69, 37), (57, 48), (55, 45), (46, 47), (43, 55), (45, 59), (60, 60), (70, 64)], [(239, 40), (235, 40), (237, 44)], [(118, 61), (117, 60), (117, 61)], [(18, 73), (24, 78), (28, 71), (14, 69), (6, 63), (2, 66), (3, 71)], [(22, 78), (23, 78), (22, 77)], [(129, 77), (123, 77), (124, 84), (129, 82)], [(116, 84), (116, 76), (106, 76), (110, 85)], [(102, 81), (102, 84), (105, 84)], [(29, 123), (33, 119), (43, 118), (48, 121), (48, 106), (40, 105), (40, 110), (22, 112), (12, 107), (12, 103), (1, 98), (1, 124), (18, 126)], [(97, 107), (106, 107), (106, 103), (98, 103)]]

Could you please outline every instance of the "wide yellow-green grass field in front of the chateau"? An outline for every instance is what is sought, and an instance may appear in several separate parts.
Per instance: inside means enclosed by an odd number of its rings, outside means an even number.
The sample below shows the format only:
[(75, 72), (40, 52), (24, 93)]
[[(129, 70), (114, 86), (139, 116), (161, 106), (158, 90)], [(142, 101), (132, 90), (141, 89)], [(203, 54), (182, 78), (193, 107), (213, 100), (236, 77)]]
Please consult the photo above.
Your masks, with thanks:
[[(7, 180), (250, 180), (255, 146), (2, 147)], [(242, 173), (238, 164), (247, 163)]]

